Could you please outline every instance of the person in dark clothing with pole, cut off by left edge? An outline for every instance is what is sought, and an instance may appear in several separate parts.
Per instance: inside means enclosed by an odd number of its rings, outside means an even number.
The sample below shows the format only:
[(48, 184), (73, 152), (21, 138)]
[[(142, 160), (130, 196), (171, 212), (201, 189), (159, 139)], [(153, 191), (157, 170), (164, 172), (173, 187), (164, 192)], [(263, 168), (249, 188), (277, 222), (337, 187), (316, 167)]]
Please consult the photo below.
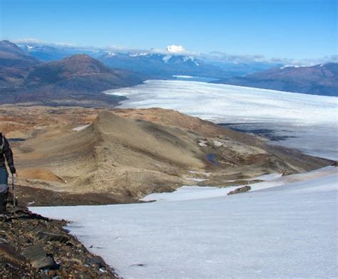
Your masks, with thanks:
[(7, 196), (9, 194), (9, 173), (6, 169), (5, 158), (11, 174), (15, 174), (16, 169), (14, 167), (13, 152), (11, 152), (11, 147), (6, 137), (0, 132), (0, 214), (6, 211)]

